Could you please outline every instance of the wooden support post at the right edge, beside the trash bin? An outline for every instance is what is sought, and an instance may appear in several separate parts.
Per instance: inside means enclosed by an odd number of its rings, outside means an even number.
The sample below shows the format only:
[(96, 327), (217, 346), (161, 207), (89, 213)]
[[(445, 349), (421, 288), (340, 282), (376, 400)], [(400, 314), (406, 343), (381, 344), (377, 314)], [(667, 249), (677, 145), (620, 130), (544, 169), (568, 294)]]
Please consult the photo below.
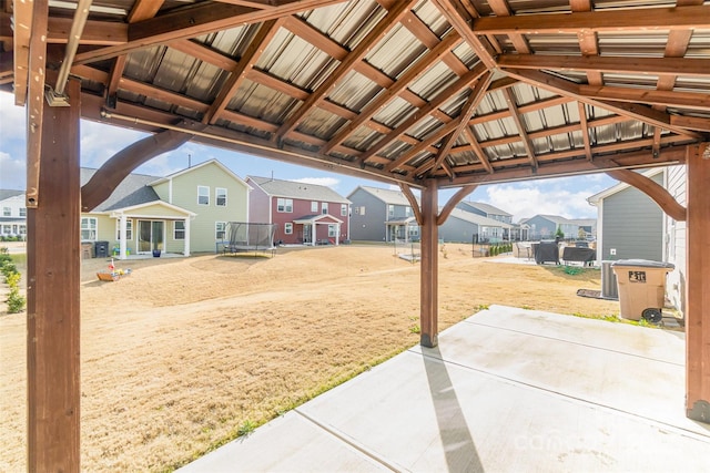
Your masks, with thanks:
[(686, 412), (710, 423), (710, 144), (689, 147)]

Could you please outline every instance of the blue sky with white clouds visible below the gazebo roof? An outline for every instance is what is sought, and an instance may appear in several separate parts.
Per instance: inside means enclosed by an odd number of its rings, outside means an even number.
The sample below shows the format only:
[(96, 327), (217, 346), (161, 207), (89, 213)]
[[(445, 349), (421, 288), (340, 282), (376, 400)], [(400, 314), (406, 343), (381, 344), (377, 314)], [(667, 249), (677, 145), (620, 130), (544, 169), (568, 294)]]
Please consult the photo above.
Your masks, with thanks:
[[(0, 93), (0, 188), (24, 189), (26, 186), (26, 114), (14, 105), (9, 93)], [(146, 136), (145, 133), (97, 122), (81, 122), (81, 165), (100, 167), (125, 146)], [(277, 179), (320, 184), (347, 197), (358, 185), (394, 188), (382, 182), (327, 173), (321, 169), (290, 165), (280, 161), (257, 157), (224, 148), (186, 143), (181, 147), (154, 157), (135, 172), (166, 176), (209, 160), (217, 160), (234, 174), (246, 176), (274, 176)], [(596, 218), (597, 208), (587, 197), (597, 194), (617, 181), (606, 174), (578, 177), (559, 177), (521, 183), (483, 185), (466, 200), (491, 204), (509, 214), (513, 222), (538, 214), (559, 215), (567, 218)], [(439, 191), (439, 205), (444, 205), (456, 189)]]

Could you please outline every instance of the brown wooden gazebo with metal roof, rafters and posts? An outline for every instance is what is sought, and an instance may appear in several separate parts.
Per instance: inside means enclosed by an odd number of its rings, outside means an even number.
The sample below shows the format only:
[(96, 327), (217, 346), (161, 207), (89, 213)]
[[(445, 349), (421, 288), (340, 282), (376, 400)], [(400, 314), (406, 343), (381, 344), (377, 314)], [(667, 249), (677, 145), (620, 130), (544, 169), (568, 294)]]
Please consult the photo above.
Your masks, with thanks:
[[(477, 185), (605, 172), (687, 222), (687, 415), (710, 420), (710, 6), (703, 0), (4, 1), (27, 109), (31, 471), (79, 471), (82, 209), (187, 141), (396, 184), (422, 229)], [(79, 121), (152, 135), (83, 187)], [(633, 169), (684, 163), (687, 205)], [(413, 189), (422, 192), (420, 203)], [(458, 191), (438, 208), (438, 191)]]

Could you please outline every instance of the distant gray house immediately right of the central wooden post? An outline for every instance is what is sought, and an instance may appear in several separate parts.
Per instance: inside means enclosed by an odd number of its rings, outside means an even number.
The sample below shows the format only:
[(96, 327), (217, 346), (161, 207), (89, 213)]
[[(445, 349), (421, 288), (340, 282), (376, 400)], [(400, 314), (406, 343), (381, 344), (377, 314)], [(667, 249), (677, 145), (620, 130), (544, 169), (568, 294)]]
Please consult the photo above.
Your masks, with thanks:
[(507, 236), (511, 224), (454, 208), (444, 225), (439, 227), (439, 239), (452, 243), (490, 241), (499, 243)]

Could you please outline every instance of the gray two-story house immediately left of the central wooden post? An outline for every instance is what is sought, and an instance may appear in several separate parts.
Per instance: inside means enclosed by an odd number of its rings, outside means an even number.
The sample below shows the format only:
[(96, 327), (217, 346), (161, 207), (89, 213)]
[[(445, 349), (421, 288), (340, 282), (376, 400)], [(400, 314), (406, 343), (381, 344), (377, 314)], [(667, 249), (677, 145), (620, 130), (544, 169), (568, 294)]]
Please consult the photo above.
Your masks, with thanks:
[(399, 191), (357, 186), (347, 199), (352, 202), (351, 237), (353, 240), (394, 241), (419, 238), (409, 200)]

